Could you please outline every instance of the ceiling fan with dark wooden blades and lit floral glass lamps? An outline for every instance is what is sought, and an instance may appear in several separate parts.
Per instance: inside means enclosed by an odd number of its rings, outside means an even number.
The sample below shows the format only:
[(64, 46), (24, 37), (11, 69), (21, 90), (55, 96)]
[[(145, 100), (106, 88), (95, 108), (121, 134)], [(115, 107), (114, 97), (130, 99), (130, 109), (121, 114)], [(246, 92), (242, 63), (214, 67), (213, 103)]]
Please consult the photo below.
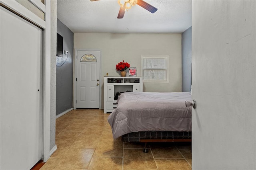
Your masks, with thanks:
[[(97, 1), (97, 0), (90, 0), (90, 1)], [(124, 13), (126, 10), (131, 9), (134, 5), (139, 5), (142, 8), (145, 8), (151, 13), (154, 13), (157, 11), (157, 8), (148, 4), (144, 0), (123, 0), (124, 2), (121, 2), (121, 0), (118, 0), (118, 4), (120, 5), (120, 10), (118, 12), (117, 18), (124, 18)]]

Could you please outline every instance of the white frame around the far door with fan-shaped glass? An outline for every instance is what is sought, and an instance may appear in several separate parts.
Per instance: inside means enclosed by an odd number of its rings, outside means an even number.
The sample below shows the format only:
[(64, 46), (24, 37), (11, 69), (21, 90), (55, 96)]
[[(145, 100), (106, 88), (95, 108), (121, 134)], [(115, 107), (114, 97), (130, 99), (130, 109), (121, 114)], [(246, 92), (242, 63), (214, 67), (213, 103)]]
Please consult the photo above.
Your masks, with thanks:
[[(100, 68), (102, 68), (102, 50), (101, 49), (75, 49), (74, 51), (74, 92), (73, 92), (73, 107), (74, 109), (76, 109), (76, 77), (77, 77), (77, 62), (76, 62), (76, 59), (77, 59), (77, 51), (100, 51)], [(100, 108), (101, 109), (101, 93), (102, 93), (102, 86), (103, 86), (103, 81), (101, 80), (101, 70), (100, 70)]]

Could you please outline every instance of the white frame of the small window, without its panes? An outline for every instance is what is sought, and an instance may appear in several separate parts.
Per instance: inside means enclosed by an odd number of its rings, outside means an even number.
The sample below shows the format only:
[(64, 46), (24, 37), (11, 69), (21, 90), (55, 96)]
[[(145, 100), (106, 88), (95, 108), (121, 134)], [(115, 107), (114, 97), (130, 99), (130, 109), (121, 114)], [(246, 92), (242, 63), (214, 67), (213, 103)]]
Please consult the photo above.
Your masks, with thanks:
[[(148, 68), (144, 68), (144, 59), (165, 59), (166, 61), (166, 69), (162, 69), (162, 70), (166, 70), (166, 80), (149, 80), (146, 78), (146, 75), (144, 75), (144, 69), (148, 69)], [(149, 68), (151, 69), (151, 68)], [(156, 69), (160, 69), (156, 68)], [(155, 69), (155, 70), (156, 70)], [(141, 74), (143, 76), (143, 82), (144, 83), (169, 83), (169, 56), (168, 55), (141, 55)]]

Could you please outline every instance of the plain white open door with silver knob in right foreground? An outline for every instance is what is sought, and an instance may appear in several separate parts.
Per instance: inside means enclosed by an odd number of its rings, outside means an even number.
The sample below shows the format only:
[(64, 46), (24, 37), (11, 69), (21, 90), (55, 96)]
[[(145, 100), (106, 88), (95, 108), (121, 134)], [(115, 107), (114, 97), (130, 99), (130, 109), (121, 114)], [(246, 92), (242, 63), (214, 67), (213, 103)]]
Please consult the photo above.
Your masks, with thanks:
[(192, 2), (192, 169), (256, 169), (256, 1)]

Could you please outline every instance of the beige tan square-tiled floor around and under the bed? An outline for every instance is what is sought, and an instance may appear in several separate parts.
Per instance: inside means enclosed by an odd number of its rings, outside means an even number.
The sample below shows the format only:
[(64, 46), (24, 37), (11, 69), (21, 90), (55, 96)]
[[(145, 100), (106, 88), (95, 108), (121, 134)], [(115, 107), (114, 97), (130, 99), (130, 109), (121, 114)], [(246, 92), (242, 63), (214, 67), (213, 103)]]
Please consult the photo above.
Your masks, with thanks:
[(57, 150), (40, 170), (191, 170), (191, 143), (123, 143), (113, 139), (109, 114), (72, 110), (56, 119)]

